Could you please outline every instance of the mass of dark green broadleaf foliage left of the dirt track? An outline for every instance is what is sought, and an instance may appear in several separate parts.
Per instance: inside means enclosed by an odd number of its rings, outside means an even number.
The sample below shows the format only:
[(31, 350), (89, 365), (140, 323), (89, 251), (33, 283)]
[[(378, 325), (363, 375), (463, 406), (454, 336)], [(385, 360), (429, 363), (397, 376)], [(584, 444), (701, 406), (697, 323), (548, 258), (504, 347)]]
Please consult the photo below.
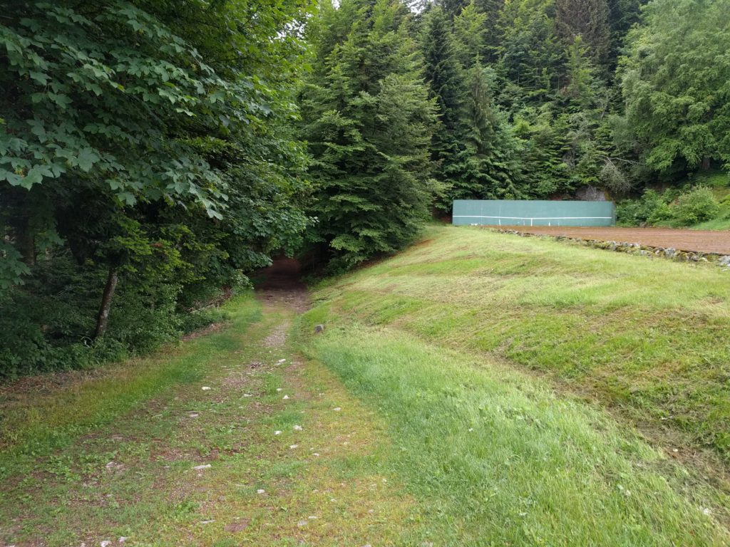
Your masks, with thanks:
[(18, 320), (0, 335), (0, 375), (148, 351), (299, 247), (307, 5), (4, 9), (0, 306)]

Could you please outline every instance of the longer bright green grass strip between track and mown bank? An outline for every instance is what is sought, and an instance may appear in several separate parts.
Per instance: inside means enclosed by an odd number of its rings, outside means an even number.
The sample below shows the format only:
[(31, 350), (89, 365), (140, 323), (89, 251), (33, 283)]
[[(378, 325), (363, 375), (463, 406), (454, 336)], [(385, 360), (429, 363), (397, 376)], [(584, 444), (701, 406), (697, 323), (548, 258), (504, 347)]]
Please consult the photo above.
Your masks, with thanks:
[(421, 526), (434, 544), (728, 544), (652, 470), (660, 454), (534, 379), (362, 325), (329, 329), (309, 348), (385, 416), (385, 465), (430, 507)]

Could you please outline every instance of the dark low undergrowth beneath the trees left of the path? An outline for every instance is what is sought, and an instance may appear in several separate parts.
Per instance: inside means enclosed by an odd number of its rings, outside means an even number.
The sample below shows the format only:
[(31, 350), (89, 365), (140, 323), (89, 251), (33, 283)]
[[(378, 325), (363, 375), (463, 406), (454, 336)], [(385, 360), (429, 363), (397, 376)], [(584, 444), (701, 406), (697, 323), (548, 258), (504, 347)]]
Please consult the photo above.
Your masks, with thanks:
[[(106, 275), (104, 268), (80, 266), (61, 255), (35, 265), (27, 284), (0, 290), (0, 380), (145, 354), (225, 318), (215, 306), (201, 311), (180, 306), (188, 300), (180, 283), (125, 274), (107, 333), (94, 341)], [(211, 294), (220, 300), (220, 290)]]

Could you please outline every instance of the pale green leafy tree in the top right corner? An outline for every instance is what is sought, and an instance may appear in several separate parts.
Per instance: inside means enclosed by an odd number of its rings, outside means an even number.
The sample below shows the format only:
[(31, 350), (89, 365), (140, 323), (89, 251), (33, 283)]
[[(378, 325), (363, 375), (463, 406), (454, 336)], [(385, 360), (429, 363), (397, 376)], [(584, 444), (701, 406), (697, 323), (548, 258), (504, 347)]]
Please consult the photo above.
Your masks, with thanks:
[(730, 166), (730, 10), (722, 1), (657, 0), (621, 61), (626, 121), (648, 166)]

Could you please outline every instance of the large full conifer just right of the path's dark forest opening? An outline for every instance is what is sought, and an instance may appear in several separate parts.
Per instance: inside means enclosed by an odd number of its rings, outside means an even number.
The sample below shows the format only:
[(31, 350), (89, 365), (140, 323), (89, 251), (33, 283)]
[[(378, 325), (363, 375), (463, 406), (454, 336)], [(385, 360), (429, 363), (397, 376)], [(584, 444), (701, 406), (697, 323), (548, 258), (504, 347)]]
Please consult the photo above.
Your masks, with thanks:
[[(434, 185), (434, 101), (423, 84), (409, 12), (397, 1), (343, 0), (357, 9), (346, 36), (302, 93), (313, 156), (312, 214), (331, 268), (347, 268), (412, 241)], [(322, 44), (315, 44), (315, 49)]]

